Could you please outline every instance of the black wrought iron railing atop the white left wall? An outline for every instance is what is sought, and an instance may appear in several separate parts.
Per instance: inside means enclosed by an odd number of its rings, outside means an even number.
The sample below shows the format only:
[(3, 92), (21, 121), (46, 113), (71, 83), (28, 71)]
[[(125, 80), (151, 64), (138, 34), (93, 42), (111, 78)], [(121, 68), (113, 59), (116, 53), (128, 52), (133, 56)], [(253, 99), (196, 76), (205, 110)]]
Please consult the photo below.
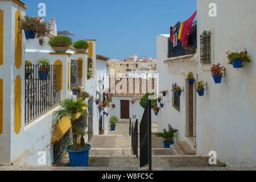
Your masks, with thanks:
[(25, 123), (59, 104), (62, 65), (25, 67)]

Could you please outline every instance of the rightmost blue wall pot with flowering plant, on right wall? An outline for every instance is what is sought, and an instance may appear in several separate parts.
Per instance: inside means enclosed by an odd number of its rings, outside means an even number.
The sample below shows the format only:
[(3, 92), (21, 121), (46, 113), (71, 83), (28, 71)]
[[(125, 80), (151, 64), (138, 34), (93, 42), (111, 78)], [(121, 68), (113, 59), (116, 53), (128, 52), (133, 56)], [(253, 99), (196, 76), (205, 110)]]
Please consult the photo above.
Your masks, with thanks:
[(251, 62), (250, 57), (247, 55), (247, 51), (243, 51), (243, 52), (226, 52), (226, 54), (228, 55), (228, 59), (229, 59), (229, 63), (228, 64), (232, 64), (233, 68), (242, 68), (243, 67), (243, 63)]

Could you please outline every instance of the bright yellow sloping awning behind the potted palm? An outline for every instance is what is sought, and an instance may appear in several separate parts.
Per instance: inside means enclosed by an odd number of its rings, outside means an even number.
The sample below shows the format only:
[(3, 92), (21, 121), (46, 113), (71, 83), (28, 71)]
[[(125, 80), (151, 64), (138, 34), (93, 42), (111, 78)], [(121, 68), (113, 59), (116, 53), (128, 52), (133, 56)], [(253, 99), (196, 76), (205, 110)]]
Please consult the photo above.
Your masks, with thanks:
[[(84, 107), (86, 110), (87, 107)], [(76, 119), (80, 118), (81, 114), (76, 115)], [(55, 123), (55, 128), (54, 128), (54, 134), (52, 137), (52, 143), (59, 142), (61, 137), (67, 133), (67, 131), (71, 128), (71, 119), (69, 117), (64, 117), (61, 119), (60, 122)]]

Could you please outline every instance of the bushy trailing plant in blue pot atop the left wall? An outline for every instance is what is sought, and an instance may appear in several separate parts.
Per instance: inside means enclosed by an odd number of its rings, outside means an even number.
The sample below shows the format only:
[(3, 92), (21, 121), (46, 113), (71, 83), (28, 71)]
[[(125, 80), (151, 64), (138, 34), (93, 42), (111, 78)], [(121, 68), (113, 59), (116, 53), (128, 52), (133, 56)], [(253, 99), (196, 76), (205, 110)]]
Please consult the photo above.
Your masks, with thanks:
[(26, 39), (35, 39), (47, 36), (51, 32), (51, 24), (41, 18), (24, 16), (19, 22), (20, 29), (24, 30)]

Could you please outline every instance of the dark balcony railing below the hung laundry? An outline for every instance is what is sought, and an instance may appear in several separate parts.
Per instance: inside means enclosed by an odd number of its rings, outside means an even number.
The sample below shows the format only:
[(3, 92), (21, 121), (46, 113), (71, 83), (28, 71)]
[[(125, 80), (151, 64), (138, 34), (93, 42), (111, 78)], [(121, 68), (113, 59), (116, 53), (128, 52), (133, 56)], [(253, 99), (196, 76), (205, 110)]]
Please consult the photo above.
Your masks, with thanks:
[(184, 55), (191, 55), (196, 53), (197, 48), (197, 22), (194, 22), (191, 27), (191, 34), (189, 34), (188, 44), (182, 47), (181, 40), (177, 40), (177, 46), (171, 43), (171, 38), (168, 40), (168, 57), (177, 57)]

